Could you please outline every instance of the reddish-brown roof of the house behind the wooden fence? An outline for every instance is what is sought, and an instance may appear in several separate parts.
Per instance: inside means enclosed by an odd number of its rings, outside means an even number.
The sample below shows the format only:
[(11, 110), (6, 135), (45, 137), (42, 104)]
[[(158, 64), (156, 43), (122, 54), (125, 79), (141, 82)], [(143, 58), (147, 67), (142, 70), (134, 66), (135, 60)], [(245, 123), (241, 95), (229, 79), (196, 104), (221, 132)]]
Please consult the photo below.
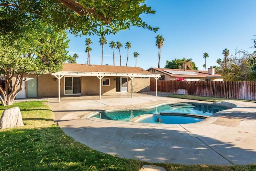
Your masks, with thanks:
[[(165, 72), (164, 70), (168, 70), (168, 71), (184, 71), (184, 70), (179, 70), (179, 69), (170, 69), (170, 68), (150, 68), (150, 69), (154, 69), (156, 71), (162, 72), (166, 75), (169, 75), (171, 77), (186, 77), (186, 78), (206, 78), (206, 77), (217, 77), (217, 78), (221, 78), (222, 76), (220, 74), (208, 74), (208, 71), (198, 71), (198, 70), (186, 70), (186, 72), (196, 72), (197, 75), (180, 75), (180, 74), (170, 74), (168, 72)], [(148, 69), (148, 70), (150, 70)]]

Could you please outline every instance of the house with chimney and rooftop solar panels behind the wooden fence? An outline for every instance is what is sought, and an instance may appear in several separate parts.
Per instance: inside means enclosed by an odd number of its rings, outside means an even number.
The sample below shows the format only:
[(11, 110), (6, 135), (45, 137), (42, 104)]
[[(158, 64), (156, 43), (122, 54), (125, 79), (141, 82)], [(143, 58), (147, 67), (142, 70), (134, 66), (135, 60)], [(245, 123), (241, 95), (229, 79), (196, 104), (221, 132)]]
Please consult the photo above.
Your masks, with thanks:
[(186, 81), (223, 81), (220, 74), (214, 73), (214, 68), (208, 68), (208, 71), (149, 68), (147, 71), (152, 74), (160, 74), (160, 80), (167, 81), (176, 80), (176, 78), (185, 78)]

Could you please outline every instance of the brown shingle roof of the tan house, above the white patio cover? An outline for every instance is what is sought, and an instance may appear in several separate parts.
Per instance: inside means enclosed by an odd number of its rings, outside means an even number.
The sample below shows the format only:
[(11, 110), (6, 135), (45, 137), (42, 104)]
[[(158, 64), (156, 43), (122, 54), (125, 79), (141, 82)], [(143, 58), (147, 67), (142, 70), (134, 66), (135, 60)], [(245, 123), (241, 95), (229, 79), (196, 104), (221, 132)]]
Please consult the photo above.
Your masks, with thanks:
[(63, 72), (103, 72), (103, 73), (129, 73), (129, 74), (152, 74), (140, 67), (130, 66), (106, 66), (106, 65), (85, 65), (67, 64), (63, 65)]

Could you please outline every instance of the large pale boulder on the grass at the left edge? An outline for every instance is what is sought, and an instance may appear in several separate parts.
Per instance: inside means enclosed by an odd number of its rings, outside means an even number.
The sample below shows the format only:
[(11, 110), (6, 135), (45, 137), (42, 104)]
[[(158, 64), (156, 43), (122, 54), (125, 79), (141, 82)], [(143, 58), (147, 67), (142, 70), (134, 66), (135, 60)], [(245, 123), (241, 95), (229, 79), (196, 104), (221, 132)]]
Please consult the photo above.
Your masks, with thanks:
[(4, 110), (0, 119), (0, 129), (24, 126), (19, 107)]

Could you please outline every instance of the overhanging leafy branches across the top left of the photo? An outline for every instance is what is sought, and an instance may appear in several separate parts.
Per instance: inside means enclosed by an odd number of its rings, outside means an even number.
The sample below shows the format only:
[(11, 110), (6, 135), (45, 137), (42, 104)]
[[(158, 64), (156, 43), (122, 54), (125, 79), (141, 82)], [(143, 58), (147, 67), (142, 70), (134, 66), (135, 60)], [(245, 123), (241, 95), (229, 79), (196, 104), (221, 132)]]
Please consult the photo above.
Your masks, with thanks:
[(19, 32), (20, 25), (38, 19), (56, 30), (68, 30), (75, 35), (115, 34), (131, 26), (156, 32), (158, 28), (152, 28), (140, 17), (155, 13), (144, 1), (1, 0), (0, 32)]

